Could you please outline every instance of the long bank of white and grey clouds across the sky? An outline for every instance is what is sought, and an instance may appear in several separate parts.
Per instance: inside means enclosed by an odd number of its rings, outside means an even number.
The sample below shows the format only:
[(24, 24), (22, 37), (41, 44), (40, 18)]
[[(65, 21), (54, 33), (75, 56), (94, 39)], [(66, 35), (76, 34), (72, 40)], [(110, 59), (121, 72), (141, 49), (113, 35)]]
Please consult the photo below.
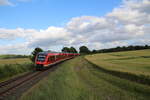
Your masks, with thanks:
[[(26, 41), (22, 45), (25, 44), (24, 47), (28, 50), (37, 46), (56, 49), (63, 46), (87, 45), (92, 49), (101, 49), (130, 44), (150, 44), (149, 5), (149, 0), (124, 1), (105, 16), (74, 17), (65, 27), (50, 26), (42, 30), (0, 28), (0, 39), (15, 41), (17, 38), (24, 38)], [(6, 46), (1, 50), (6, 48), (19, 49), (15, 46)], [(6, 51), (12, 52), (9, 49)]]

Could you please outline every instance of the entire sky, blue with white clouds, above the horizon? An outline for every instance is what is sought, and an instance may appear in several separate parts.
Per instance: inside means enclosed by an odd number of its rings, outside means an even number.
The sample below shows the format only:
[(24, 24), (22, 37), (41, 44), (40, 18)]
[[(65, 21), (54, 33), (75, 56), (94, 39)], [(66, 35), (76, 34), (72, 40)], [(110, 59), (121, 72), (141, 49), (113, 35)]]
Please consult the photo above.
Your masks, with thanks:
[(150, 45), (150, 0), (0, 0), (0, 54)]

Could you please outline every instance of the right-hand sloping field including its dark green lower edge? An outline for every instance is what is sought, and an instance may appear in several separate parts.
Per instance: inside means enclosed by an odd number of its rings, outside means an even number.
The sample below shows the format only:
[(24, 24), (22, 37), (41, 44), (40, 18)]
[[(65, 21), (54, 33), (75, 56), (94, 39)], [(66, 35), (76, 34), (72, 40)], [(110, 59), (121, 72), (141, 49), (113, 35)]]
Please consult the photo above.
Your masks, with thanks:
[(85, 58), (107, 73), (150, 85), (150, 50), (95, 54)]

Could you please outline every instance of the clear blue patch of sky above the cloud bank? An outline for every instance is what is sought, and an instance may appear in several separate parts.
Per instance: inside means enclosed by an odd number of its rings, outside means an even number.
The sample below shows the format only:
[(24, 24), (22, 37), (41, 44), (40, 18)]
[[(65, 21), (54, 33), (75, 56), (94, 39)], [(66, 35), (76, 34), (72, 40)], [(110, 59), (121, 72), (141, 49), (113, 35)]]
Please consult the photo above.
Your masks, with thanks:
[(63, 26), (72, 17), (103, 16), (121, 0), (10, 0), (12, 6), (0, 6), (0, 27), (46, 29)]

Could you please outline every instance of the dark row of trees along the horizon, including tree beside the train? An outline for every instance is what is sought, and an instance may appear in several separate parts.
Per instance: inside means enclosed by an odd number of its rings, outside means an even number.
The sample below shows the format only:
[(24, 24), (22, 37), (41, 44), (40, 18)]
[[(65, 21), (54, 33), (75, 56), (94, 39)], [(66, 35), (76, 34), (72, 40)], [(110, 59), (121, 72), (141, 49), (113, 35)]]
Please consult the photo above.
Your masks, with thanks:
[[(143, 49), (150, 49), (149, 45), (136, 45), (136, 46), (118, 46), (115, 48), (108, 48), (108, 49), (100, 49), (100, 50), (90, 50), (87, 46), (81, 46), (79, 47), (79, 53), (81, 55), (86, 55), (86, 54), (95, 54), (95, 53), (109, 53), (109, 52), (119, 52), (119, 51), (131, 51), (131, 50), (143, 50)], [(31, 53), (31, 60), (34, 62), (35, 57), (39, 52), (42, 52), (43, 49), (37, 47), (34, 49), (34, 51)], [(74, 47), (63, 47), (62, 52), (67, 52), (67, 53), (78, 53), (78, 51)]]

